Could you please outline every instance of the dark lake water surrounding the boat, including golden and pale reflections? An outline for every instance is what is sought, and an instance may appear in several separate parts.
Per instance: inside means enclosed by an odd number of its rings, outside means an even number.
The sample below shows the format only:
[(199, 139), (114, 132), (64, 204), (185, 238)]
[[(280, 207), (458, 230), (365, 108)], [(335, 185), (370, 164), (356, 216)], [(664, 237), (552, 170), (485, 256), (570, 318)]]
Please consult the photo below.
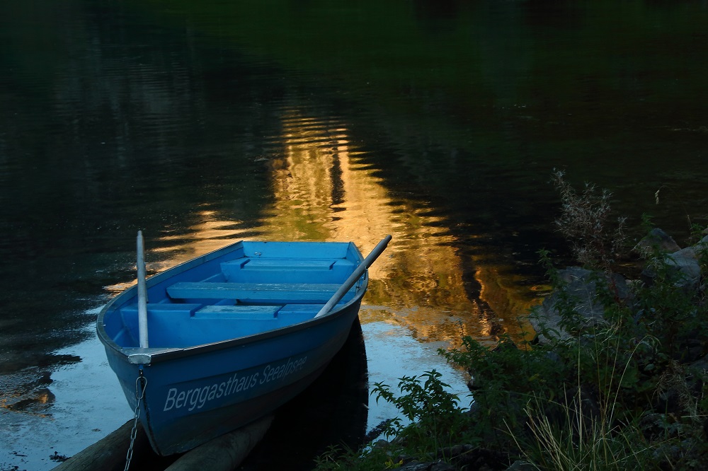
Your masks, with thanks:
[(391, 233), (360, 318), (394, 384), (523, 335), (537, 250), (567, 253), (554, 168), (705, 225), (707, 76), (704, 0), (0, 2), (0, 469), (130, 418), (92, 323), (138, 228), (150, 273)]

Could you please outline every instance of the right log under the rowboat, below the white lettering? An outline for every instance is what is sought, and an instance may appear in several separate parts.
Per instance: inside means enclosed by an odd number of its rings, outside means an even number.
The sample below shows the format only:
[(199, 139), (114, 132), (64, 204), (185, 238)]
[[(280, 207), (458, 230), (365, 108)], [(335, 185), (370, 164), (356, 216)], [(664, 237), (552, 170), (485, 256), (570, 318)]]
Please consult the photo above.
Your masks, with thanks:
[(272, 415), (218, 436), (188, 451), (165, 471), (234, 470), (261, 441), (271, 422), (273, 422)]

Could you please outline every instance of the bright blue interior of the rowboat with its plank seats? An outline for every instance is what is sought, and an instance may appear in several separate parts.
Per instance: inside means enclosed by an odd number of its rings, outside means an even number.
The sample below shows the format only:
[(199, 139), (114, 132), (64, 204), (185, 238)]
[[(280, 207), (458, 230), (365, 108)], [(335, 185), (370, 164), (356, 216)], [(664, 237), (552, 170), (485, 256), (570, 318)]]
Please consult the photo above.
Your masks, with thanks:
[[(343, 258), (241, 257), (221, 262), (220, 268), (211, 276), (176, 277), (171, 284), (149, 289), (150, 347), (193, 347), (312, 319), (353, 272), (355, 264)], [(200, 281), (185, 281), (194, 279)], [(355, 285), (340, 303), (350, 301), (357, 289)], [(135, 300), (105, 316), (104, 322), (106, 332), (118, 346), (138, 347)]]

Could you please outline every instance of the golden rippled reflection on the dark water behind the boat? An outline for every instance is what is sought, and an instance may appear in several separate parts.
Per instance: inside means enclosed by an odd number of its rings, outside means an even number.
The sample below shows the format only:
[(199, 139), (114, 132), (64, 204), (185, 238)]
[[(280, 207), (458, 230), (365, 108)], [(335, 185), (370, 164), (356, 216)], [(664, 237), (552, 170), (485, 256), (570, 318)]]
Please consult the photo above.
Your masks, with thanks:
[[(502, 332), (523, 335), (517, 318), (531, 302), (501, 275), (513, 270), (462, 260), (440, 218), (419, 202), (389, 195), (375, 169), (350, 146), (343, 124), (296, 111), (287, 112), (282, 124), (282, 153), (269, 161), (273, 203), (265, 208), (261, 226), (244, 228), (240, 221), (202, 211), (189, 240), (161, 238), (166, 242), (161, 250), (171, 255), (149, 264), (150, 272), (234, 240), (351, 240), (366, 255), (391, 234), (392, 242), (370, 269), (362, 322), (396, 322), (413, 337), (452, 347), (463, 335), (482, 340)], [(463, 267), (474, 273), (464, 274)], [(465, 289), (465, 276), (474, 278), (476, 289)]]

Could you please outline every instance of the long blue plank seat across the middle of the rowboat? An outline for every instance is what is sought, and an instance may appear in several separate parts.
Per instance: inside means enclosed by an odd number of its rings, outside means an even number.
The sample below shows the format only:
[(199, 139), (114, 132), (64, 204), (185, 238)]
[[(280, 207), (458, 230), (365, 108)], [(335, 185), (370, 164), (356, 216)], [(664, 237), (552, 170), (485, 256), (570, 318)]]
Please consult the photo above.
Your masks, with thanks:
[[(173, 299), (234, 299), (282, 300), (288, 303), (326, 303), (339, 289), (329, 283), (213, 283), (209, 281), (181, 281), (167, 287)], [(348, 301), (355, 287), (344, 296)]]

